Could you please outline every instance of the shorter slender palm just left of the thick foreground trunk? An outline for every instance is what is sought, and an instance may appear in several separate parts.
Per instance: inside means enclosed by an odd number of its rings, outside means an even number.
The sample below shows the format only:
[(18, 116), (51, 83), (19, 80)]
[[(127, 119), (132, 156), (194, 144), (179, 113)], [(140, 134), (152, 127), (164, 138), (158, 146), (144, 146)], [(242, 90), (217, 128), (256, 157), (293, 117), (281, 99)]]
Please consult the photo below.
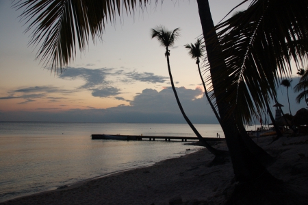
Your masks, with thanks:
[(216, 118), (218, 119), (218, 122), (220, 123), (220, 117), (218, 115), (218, 112), (216, 111), (216, 108), (211, 102), (211, 99), (209, 98), (209, 94), (207, 93), (207, 87), (205, 86), (205, 82), (203, 80), (203, 76), (202, 76), (201, 69), (200, 69), (200, 58), (203, 57), (205, 46), (202, 45), (201, 40), (198, 38), (198, 40), (196, 40), (196, 43), (194, 44), (191, 43), (190, 45), (186, 44), (185, 48), (188, 49), (188, 53), (190, 54), (190, 57), (196, 60), (196, 64), (198, 65), (198, 71), (199, 71), (199, 75), (201, 78), (201, 82), (203, 84), (205, 96), (207, 97), (207, 101), (209, 101), (209, 105), (211, 106), (211, 109), (213, 110)]

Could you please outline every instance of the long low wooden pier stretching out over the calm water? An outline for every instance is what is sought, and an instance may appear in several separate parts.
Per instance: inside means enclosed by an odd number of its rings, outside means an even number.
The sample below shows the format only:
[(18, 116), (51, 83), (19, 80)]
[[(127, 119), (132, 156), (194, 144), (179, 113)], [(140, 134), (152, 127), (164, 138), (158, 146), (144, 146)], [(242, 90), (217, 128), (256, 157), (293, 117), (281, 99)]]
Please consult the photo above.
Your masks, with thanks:
[[(92, 139), (116, 139), (116, 140), (136, 140), (142, 141), (143, 139), (149, 139), (149, 141), (155, 141), (155, 139), (164, 139), (165, 141), (181, 140), (185, 141), (198, 141), (197, 137), (189, 136), (142, 136), (142, 135), (120, 135), (120, 134), (92, 134)], [(206, 141), (224, 141), (224, 138), (207, 137)]]

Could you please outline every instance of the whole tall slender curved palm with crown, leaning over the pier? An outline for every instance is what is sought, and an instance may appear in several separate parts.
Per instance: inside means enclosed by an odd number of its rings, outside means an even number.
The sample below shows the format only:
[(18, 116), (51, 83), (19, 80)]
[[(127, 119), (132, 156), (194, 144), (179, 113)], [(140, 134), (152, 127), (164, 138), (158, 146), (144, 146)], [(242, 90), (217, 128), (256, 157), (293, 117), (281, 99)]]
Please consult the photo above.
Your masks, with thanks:
[(183, 106), (181, 105), (181, 102), (179, 101), (179, 96), (177, 95), (177, 90), (175, 89), (175, 84), (173, 82), (172, 74), (171, 74), (171, 69), (170, 69), (170, 61), (169, 61), (169, 56), (170, 56), (170, 50), (169, 48), (172, 47), (175, 44), (175, 40), (179, 38), (179, 28), (174, 29), (173, 31), (168, 31), (166, 27), (160, 25), (157, 26), (155, 29), (151, 29), (151, 37), (152, 38), (157, 38), (159, 41), (160, 45), (163, 47), (166, 47), (166, 52), (165, 52), (165, 57), (167, 59), (167, 65), (168, 65), (168, 72), (169, 72), (169, 77), (170, 77), (170, 82), (172, 86), (173, 93), (175, 93), (175, 99), (177, 99), (177, 105), (179, 106), (179, 109), (181, 110), (181, 113), (185, 119), (185, 121), (190, 125), (190, 128), (192, 128), (192, 131), (196, 136), (198, 137), (199, 141), (207, 147), (209, 152), (212, 154), (215, 154), (216, 156), (224, 154), (225, 152), (222, 152), (218, 149), (215, 149), (214, 147), (211, 147), (209, 143), (205, 141), (205, 139), (201, 136), (201, 134), (196, 130), (190, 119), (188, 119), (187, 115), (185, 114), (183, 110)]

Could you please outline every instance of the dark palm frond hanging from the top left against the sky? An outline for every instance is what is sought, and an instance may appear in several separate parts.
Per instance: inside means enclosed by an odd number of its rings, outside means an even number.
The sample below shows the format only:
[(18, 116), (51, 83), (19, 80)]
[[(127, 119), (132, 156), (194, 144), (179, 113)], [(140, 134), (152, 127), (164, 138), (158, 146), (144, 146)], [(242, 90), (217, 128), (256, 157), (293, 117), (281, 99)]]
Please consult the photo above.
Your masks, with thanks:
[[(157, 0), (156, 0), (157, 1)], [(53, 70), (64, 69), (76, 51), (84, 51), (89, 38), (101, 38), (105, 24), (114, 22), (120, 9), (126, 12), (144, 6), (148, 0), (18, 0), (14, 8), (24, 9), (21, 20), (29, 24), (29, 45), (39, 46), (36, 58)]]

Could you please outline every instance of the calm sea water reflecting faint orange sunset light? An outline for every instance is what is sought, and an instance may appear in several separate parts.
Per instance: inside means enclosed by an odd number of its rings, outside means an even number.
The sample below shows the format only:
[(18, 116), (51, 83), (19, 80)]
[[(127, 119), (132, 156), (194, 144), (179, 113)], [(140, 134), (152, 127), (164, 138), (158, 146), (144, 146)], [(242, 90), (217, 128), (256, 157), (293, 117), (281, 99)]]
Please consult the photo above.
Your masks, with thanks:
[[(204, 137), (223, 137), (220, 125), (196, 128)], [(186, 124), (0, 122), (0, 202), (201, 149), (180, 141), (91, 140), (91, 134), (194, 136)]]

